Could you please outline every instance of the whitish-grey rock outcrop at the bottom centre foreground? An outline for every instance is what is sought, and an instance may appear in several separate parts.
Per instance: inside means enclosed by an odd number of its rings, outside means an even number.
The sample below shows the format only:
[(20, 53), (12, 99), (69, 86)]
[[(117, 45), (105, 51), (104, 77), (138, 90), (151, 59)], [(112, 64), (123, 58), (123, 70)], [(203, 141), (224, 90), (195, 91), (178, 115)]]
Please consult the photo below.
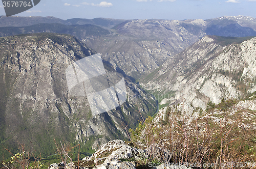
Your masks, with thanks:
[[(116, 139), (100, 147), (92, 156), (85, 157), (82, 161), (69, 163), (53, 163), (48, 169), (136, 169), (143, 168), (138, 161), (143, 161), (147, 157), (146, 150), (137, 149), (129, 142)], [(154, 169), (187, 169), (185, 165), (176, 166), (168, 164), (158, 164)]]

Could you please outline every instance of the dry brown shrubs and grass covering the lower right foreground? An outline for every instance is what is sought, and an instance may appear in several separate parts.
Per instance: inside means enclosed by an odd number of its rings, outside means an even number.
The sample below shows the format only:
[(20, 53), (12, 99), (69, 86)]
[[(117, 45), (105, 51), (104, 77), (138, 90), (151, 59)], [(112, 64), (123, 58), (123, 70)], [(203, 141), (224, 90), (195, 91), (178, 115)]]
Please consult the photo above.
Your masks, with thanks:
[[(130, 129), (132, 142), (135, 147), (146, 146), (150, 151), (147, 163), (197, 163), (202, 168), (207, 168), (203, 167), (205, 163), (217, 163), (217, 168), (221, 168), (221, 163), (228, 166), (230, 161), (253, 163), (256, 160), (256, 130), (253, 127), (256, 114), (249, 110), (230, 112), (228, 108), (236, 102), (224, 99), (218, 105), (209, 102), (207, 109), (215, 109), (216, 116), (194, 119), (182, 114), (177, 106), (171, 106), (163, 121), (155, 123), (148, 117), (135, 130)], [(254, 116), (244, 116), (247, 112)]]

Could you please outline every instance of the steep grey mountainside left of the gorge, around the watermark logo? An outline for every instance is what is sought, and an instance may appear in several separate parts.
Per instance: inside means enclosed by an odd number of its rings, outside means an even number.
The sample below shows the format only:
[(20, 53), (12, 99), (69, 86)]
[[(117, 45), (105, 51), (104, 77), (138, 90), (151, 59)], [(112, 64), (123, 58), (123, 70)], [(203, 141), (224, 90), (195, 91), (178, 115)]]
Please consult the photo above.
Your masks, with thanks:
[[(68, 92), (66, 68), (95, 54), (74, 37), (33, 34), (4, 37), (0, 44), (1, 147), (24, 140), (48, 155), (56, 139), (79, 142), (90, 151), (109, 139), (125, 138), (124, 127), (134, 128), (140, 119), (138, 110), (142, 116), (157, 111), (154, 98), (125, 77), (126, 102), (92, 116), (87, 98)], [(116, 72), (110, 63), (103, 63), (107, 71)]]

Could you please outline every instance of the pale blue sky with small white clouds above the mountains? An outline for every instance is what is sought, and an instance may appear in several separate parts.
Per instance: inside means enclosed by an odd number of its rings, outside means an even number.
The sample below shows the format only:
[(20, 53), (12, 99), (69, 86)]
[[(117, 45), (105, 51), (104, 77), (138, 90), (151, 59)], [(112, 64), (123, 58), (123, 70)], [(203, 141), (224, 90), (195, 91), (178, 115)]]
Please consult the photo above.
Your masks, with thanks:
[[(11, 0), (10, 0), (11, 1)], [(256, 18), (256, 0), (41, 0), (15, 16), (54, 16), (60, 19), (210, 19), (221, 16)], [(0, 3), (0, 15), (6, 15)]]

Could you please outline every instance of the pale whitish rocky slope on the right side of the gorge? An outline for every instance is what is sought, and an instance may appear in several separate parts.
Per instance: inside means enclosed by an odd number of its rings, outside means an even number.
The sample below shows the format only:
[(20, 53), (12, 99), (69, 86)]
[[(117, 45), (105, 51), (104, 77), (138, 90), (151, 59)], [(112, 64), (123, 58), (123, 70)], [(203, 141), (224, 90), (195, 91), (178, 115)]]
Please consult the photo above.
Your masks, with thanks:
[(243, 98), (256, 90), (255, 46), (252, 37), (205, 36), (142, 77), (141, 85), (162, 105), (186, 101), (205, 108), (209, 101)]

